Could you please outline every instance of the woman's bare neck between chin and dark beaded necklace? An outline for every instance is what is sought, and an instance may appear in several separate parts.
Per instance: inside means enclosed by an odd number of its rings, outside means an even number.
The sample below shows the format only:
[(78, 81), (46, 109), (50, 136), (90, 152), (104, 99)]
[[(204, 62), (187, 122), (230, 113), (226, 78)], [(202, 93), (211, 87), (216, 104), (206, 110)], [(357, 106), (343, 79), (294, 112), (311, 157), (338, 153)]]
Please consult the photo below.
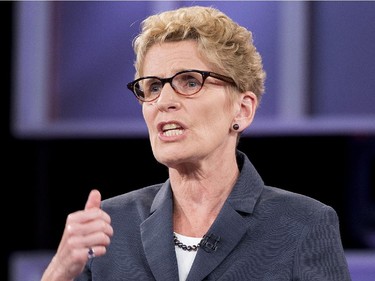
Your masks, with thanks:
[(208, 231), (237, 180), (239, 171), (237, 163), (234, 164), (232, 168), (214, 167), (194, 176), (170, 170), (174, 231), (192, 237), (202, 237)]

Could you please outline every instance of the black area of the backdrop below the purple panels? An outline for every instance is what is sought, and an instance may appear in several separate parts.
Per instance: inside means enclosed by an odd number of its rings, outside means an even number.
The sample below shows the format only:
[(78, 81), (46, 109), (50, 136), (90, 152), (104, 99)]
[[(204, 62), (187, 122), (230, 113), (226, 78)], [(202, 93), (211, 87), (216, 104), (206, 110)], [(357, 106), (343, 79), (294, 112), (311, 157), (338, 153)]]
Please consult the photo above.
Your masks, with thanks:
[[(167, 177), (147, 138), (17, 139), (11, 134), (12, 2), (1, 2), (2, 266), (15, 251), (56, 249), (68, 213), (88, 192), (103, 198)], [(375, 248), (375, 137), (246, 137), (248, 154), (268, 185), (314, 197), (336, 209), (346, 249)], [(372, 240), (371, 240), (372, 239)], [(4, 249), (5, 248), (5, 249)]]

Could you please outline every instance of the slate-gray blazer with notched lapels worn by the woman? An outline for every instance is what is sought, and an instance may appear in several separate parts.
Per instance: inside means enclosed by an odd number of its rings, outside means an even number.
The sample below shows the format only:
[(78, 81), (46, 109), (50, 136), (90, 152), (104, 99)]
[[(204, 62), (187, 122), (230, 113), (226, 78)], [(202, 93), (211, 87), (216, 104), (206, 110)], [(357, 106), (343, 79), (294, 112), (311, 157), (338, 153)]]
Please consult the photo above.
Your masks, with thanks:
[[(351, 280), (336, 212), (264, 185), (237, 151), (240, 176), (199, 248), (187, 281)], [(178, 280), (170, 182), (102, 202), (114, 235), (76, 280)]]

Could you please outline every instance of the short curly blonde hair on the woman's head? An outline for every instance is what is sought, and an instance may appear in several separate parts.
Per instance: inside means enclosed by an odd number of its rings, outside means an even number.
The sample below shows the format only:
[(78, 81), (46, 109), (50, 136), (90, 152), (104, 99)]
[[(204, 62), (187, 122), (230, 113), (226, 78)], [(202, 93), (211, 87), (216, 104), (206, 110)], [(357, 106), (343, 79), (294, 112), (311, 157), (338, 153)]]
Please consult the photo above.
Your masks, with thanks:
[(259, 104), (266, 74), (252, 33), (212, 7), (183, 7), (146, 18), (133, 41), (136, 78), (152, 45), (183, 40), (195, 40), (202, 57), (231, 77), (240, 92), (252, 91)]

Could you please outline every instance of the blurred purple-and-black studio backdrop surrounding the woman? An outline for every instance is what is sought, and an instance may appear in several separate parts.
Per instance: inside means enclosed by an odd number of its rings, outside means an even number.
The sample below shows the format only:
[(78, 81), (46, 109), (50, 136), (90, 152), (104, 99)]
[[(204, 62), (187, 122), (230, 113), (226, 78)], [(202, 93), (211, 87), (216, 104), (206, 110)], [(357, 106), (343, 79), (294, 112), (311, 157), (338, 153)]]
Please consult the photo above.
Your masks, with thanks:
[(39, 280), (92, 188), (166, 180), (126, 89), (131, 43), (146, 16), (195, 4), (252, 30), (263, 57), (266, 93), (239, 148), (266, 184), (334, 207), (353, 280), (375, 280), (372, 1), (0, 2), (1, 280)]

